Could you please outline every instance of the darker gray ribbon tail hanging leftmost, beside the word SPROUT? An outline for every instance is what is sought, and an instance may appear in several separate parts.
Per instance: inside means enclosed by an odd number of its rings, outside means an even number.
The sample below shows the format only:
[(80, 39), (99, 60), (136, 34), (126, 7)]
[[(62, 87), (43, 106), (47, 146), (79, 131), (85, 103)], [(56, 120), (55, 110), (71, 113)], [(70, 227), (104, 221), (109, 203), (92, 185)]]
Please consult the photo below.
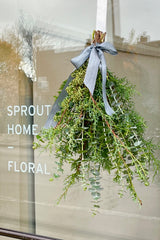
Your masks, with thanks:
[(63, 90), (61, 91), (61, 93), (59, 94), (58, 98), (56, 99), (55, 103), (52, 106), (51, 112), (48, 115), (48, 118), (44, 125), (44, 128), (48, 129), (50, 127), (55, 127), (57, 125), (57, 122), (55, 122), (53, 118), (56, 115), (56, 113), (61, 110), (60, 104), (64, 100), (64, 98), (67, 96), (66, 87), (69, 85), (69, 83), (72, 80), (73, 80), (73, 78), (70, 75), (69, 78), (67, 79), (67, 82), (66, 82)]

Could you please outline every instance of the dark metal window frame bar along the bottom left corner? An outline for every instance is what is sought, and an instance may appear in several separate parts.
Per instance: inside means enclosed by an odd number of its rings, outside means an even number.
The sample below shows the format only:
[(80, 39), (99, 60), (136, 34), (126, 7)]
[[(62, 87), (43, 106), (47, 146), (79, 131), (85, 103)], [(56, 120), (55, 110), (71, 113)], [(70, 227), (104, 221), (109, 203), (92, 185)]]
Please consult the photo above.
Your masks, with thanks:
[(34, 235), (25, 232), (14, 231), (10, 229), (0, 228), (0, 235), (22, 240), (62, 240), (58, 238), (45, 237), (41, 235)]

